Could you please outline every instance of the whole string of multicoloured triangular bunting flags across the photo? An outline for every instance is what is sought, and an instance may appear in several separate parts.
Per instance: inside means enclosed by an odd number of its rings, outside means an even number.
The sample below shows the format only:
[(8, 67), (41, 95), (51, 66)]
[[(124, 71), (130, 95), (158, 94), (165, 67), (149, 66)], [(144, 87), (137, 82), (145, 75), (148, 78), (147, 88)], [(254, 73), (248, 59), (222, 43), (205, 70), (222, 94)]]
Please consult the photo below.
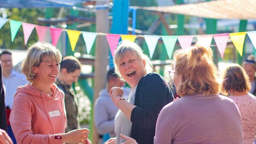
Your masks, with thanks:
[(180, 47), (182, 49), (186, 49), (188, 46), (191, 45), (192, 40), (194, 37), (197, 38), (198, 43), (203, 43), (207, 46), (210, 46), (212, 42), (212, 38), (216, 43), (216, 46), (221, 54), (221, 58), (224, 56), (224, 51), (227, 46), (227, 40), (228, 37), (232, 40), (234, 43), (234, 46), (236, 47), (239, 54), (243, 55), (243, 49), (244, 49), (244, 39), (245, 36), (248, 35), (251, 42), (253, 43), (254, 48), (256, 49), (256, 31), (251, 32), (236, 32), (236, 33), (226, 33), (226, 34), (214, 34), (214, 35), (182, 35), (182, 36), (161, 36), (161, 35), (118, 35), (118, 34), (108, 34), (108, 33), (101, 33), (101, 32), (83, 32), (83, 31), (76, 31), (76, 30), (70, 30), (70, 29), (58, 29), (58, 28), (50, 28), (47, 26), (39, 26), (36, 24), (31, 23), (23, 23), (17, 20), (10, 20), (3, 17), (0, 17), (0, 29), (3, 27), (3, 25), (6, 24), (6, 22), (9, 21), (10, 23), (10, 30), (11, 30), (11, 38), (12, 42), (15, 39), (15, 36), (17, 35), (18, 30), (20, 29), (20, 26), (23, 27), (23, 34), (24, 34), (24, 43), (26, 45), (33, 29), (36, 29), (36, 32), (38, 34), (38, 41), (44, 41), (46, 39), (45, 35), (47, 31), (50, 32), (51, 38), (52, 38), (52, 44), (56, 46), (58, 43), (59, 37), (61, 36), (62, 32), (67, 32), (67, 35), (70, 40), (71, 49), (74, 52), (76, 48), (76, 43), (79, 39), (79, 35), (82, 34), (83, 40), (85, 42), (85, 48), (87, 51), (87, 54), (90, 53), (90, 50), (93, 46), (93, 43), (95, 42), (95, 39), (97, 36), (106, 36), (109, 48), (111, 50), (111, 54), (114, 54), (114, 51), (116, 50), (116, 46), (119, 43), (119, 40), (130, 40), (135, 41), (136, 38), (144, 38), (147, 45), (148, 45), (148, 51), (149, 56), (152, 58), (154, 55), (154, 51), (156, 49), (158, 40), (163, 40), (163, 44), (166, 48), (167, 55), (169, 58), (172, 57), (174, 47), (176, 43), (178, 42)]

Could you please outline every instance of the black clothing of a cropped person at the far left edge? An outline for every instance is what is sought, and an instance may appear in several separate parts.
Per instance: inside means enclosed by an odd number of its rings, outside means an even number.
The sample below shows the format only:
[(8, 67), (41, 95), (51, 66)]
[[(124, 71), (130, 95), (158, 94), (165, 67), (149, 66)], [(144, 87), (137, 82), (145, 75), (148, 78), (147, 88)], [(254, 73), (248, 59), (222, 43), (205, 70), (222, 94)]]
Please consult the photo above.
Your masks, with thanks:
[(0, 62), (0, 129), (3, 129), (7, 132), (7, 121), (6, 121), (6, 107), (5, 107), (5, 98), (4, 98), (4, 89), (3, 89), (3, 74), (2, 74), (2, 64)]

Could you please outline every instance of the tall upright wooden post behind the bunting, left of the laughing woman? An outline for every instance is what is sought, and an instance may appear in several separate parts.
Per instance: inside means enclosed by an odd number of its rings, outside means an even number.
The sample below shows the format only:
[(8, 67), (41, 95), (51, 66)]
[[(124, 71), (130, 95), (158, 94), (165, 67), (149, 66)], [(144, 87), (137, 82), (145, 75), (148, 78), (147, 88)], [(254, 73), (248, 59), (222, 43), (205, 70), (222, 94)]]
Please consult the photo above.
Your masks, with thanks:
[[(97, 1), (97, 4), (108, 4), (109, 1)], [(96, 10), (96, 32), (109, 33), (109, 9)], [(98, 35), (96, 38), (95, 71), (94, 71), (94, 96), (93, 106), (99, 97), (101, 89), (106, 87), (106, 75), (108, 66), (108, 42), (105, 35)], [(99, 135), (93, 124), (93, 144), (99, 144)]]

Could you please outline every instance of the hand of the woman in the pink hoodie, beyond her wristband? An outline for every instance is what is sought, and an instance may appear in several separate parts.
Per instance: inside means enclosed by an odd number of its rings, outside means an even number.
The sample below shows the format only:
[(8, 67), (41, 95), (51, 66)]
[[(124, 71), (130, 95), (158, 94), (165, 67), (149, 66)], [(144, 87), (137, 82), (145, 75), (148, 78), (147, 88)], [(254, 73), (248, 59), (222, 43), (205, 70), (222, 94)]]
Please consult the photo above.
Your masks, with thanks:
[(61, 134), (62, 143), (80, 144), (86, 142), (87, 144), (88, 133), (90, 133), (90, 130), (88, 129), (77, 129)]

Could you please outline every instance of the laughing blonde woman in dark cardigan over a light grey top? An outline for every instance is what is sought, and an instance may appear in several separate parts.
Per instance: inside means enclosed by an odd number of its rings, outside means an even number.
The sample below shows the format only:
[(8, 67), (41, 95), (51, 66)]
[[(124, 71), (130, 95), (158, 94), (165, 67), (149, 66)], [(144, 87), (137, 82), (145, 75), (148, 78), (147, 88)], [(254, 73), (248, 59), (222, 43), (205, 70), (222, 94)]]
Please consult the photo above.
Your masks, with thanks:
[[(115, 118), (116, 144), (123, 130), (139, 144), (153, 144), (157, 117), (160, 110), (173, 100), (173, 95), (163, 77), (152, 71), (149, 58), (140, 46), (130, 41), (122, 41), (114, 55), (115, 72), (132, 88), (128, 101), (122, 98), (122, 89), (113, 87), (110, 95), (120, 109)], [(133, 100), (132, 100), (133, 99)], [(131, 125), (122, 121), (126, 117)], [(125, 116), (124, 116), (125, 115)], [(122, 128), (122, 127), (126, 128)], [(126, 130), (128, 129), (130, 130)], [(115, 140), (107, 141), (113, 144)]]

